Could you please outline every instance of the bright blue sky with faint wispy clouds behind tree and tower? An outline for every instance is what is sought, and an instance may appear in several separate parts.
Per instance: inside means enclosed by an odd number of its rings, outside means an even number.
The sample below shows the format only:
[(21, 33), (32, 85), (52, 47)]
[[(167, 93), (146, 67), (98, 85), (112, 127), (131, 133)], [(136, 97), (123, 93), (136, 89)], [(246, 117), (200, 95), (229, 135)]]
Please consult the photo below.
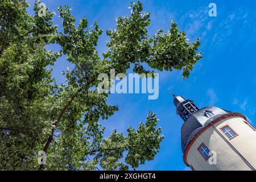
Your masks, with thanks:
[[(34, 1), (28, 1), (33, 2)], [(114, 19), (130, 15), (130, 1), (93, 0), (67, 1), (42, 0), (57, 13), (58, 6), (68, 5), (73, 9), (77, 22), (85, 16), (89, 24), (97, 21), (102, 30), (115, 28)], [(209, 3), (217, 5), (217, 17), (208, 16)], [(28, 11), (31, 12), (31, 7)], [(177, 22), (180, 30), (187, 33), (190, 41), (201, 38), (200, 51), (204, 58), (195, 65), (191, 76), (182, 80), (181, 71), (159, 73), (159, 98), (148, 100), (147, 94), (112, 94), (110, 104), (118, 104), (119, 111), (108, 121), (106, 135), (114, 129), (126, 133), (129, 125), (137, 127), (144, 122), (148, 110), (154, 111), (160, 119), (164, 140), (155, 160), (146, 162), (141, 170), (186, 170), (181, 152), (180, 129), (183, 120), (176, 115), (171, 93), (180, 94), (195, 101), (198, 107), (214, 105), (226, 110), (240, 112), (256, 121), (256, 1), (185, 1), (155, 0), (142, 1), (143, 10), (151, 12), (149, 34), (154, 35), (163, 28), (167, 31), (171, 20)], [(57, 14), (58, 15), (58, 14)], [(55, 24), (61, 19), (55, 16)], [(98, 42), (98, 52), (107, 50), (108, 36), (105, 32)], [(58, 46), (49, 46), (57, 50)], [(61, 57), (53, 68), (58, 82), (64, 81), (60, 74), (70, 66)]]

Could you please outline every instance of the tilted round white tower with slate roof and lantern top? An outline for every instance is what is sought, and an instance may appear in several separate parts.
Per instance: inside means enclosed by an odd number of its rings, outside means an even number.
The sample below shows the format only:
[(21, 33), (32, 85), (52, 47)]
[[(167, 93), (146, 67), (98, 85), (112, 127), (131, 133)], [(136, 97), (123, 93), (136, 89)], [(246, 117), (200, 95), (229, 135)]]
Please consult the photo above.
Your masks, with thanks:
[(256, 169), (256, 130), (243, 114), (214, 106), (199, 109), (193, 101), (174, 96), (183, 119), (181, 149), (192, 170)]

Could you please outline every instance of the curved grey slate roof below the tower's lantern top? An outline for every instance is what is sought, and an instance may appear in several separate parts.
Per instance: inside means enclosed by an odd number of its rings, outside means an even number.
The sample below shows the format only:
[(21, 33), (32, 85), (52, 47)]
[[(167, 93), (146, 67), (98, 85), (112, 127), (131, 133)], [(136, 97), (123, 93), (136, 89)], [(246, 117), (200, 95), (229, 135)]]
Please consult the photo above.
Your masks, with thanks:
[[(208, 118), (205, 116), (205, 111), (212, 112), (213, 116)], [(184, 122), (181, 127), (181, 148), (184, 154), (185, 149), (188, 146), (188, 143), (193, 139), (193, 137), (204, 128), (204, 126), (208, 125), (208, 123), (214, 121), (216, 118), (221, 117), (221, 115), (225, 115), (231, 113), (230, 111), (226, 111), (220, 109), (218, 107), (204, 107), (199, 111), (191, 114), (191, 116)]]

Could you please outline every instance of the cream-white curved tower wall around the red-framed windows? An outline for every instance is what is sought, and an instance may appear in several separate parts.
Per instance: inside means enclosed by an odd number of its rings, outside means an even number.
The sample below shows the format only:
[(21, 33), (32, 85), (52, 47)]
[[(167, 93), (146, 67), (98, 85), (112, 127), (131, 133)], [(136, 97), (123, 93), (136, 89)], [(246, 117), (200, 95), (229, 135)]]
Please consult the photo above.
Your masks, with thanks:
[[(256, 169), (256, 131), (239, 114), (209, 123), (198, 133), (185, 150), (184, 162), (198, 170), (254, 170)], [(247, 122), (248, 123), (248, 122)], [(229, 139), (221, 130), (228, 125), (237, 136)], [(205, 160), (198, 148), (204, 143), (216, 152), (216, 164)], [(212, 161), (212, 160), (211, 160)]]

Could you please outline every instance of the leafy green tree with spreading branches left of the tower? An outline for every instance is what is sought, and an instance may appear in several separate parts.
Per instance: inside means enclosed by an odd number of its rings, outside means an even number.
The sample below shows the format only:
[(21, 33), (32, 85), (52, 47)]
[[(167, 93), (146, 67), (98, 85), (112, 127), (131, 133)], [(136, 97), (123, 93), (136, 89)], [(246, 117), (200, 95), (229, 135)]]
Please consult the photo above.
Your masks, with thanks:
[[(35, 3), (35, 14), (28, 15), (27, 6), (24, 0), (0, 2), (0, 169), (123, 170), (153, 160), (163, 136), (151, 111), (138, 129), (127, 129), (127, 136), (114, 130), (103, 137), (99, 121), (118, 107), (97, 92), (97, 76), (133, 67), (137, 73), (183, 69), (188, 77), (201, 58), (199, 40), (187, 42), (174, 22), (167, 33), (160, 30), (150, 38), (150, 14), (142, 12), (141, 2), (131, 3), (131, 15), (118, 18), (115, 30), (106, 32), (109, 51), (100, 59), (96, 46), (103, 31), (97, 23), (88, 28), (84, 18), (76, 26), (69, 7), (59, 7), (61, 32), (52, 22), (55, 14), (47, 9), (39, 16)], [(48, 51), (48, 44), (61, 51)], [(66, 81), (58, 85), (51, 66), (61, 55), (74, 68), (63, 72)], [(46, 165), (39, 167), (42, 150)]]

